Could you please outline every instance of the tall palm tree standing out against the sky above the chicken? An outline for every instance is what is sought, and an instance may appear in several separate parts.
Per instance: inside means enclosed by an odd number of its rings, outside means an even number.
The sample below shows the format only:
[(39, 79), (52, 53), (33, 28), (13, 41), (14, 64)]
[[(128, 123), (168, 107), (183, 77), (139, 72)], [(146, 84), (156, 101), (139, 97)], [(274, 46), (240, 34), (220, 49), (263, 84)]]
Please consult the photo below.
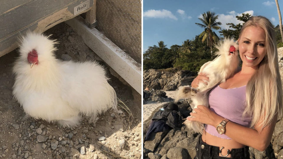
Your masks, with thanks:
[(200, 19), (200, 21), (203, 24), (200, 24), (200, 23), (195, 23), (195, 24), (197, 24), (198, 26), (202, 28), (205, 28), (204, 31), (200, 33), (200, 37), (203, 37), (202, 42), (204, 42), (206, 39), (207, 45), (209, 42), (210, 50), (211, 50), (211, 59), (212, 59), (212, 44), (213, 42), (216, 42), (219, 39), (219, 37), (216, 35), (216, 33), (212, 29), (215, 29), (215, 30), (221, 29), (218, 26), (218, 25), (221, 25), (221, 22), (219, 21), (216, 22), (216, 20), (218, 19), (218, 15), (215, 15), (214, 12), (211, 13), (210, 11), (203, 13), (202, 17), (198, 19)]

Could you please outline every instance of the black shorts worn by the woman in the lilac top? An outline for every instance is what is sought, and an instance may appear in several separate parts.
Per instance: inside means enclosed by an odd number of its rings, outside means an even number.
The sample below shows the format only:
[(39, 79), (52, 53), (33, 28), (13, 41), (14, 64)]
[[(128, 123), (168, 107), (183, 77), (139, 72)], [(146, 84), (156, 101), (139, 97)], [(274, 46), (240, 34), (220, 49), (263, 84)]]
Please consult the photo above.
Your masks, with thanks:
[[(217, 146), (208, 145), (200, 138), (195, 147), (197, 154), (194, 159), (224, 159), (229, 157), (219, 156), (220, 149)], [(225, 153), (226, 154), (226, 153)], [(229, 159), (250, 159), (249, 146), (236, 148), (231, 150), (231, 158)]]

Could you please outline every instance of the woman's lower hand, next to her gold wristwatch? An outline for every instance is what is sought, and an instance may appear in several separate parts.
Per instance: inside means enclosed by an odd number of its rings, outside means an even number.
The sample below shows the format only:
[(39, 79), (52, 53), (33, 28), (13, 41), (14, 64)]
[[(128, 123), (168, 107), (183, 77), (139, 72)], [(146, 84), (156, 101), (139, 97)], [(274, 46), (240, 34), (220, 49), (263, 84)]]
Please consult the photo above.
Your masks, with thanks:
[(216, 127), (224, 119), (203, 105), (198, 105), (194, 111), (194, 113), (190, 113), (193, 117), (187, 117), (187, 120), (198, 121)]

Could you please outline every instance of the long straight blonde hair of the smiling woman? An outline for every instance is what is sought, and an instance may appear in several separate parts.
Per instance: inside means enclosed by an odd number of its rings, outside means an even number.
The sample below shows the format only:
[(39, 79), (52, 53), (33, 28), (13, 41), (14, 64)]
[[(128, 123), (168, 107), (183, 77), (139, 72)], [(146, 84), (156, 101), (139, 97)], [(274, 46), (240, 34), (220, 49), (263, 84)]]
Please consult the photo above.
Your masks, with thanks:
[(282, 84), (279, 74), (277, 42), (272, 23), (264, 16), (252, 16), (243, 25), (240, 32), (246, 27), (261, 27), (265, 31), (265, 57), (259, 63), (259, 68), (254, 72), (246, 86), (247, 107), (243, 115), (252, 116), (251, 128), (259, 120), (261, 128), (269, 125), (276, 114), (282, 114)]

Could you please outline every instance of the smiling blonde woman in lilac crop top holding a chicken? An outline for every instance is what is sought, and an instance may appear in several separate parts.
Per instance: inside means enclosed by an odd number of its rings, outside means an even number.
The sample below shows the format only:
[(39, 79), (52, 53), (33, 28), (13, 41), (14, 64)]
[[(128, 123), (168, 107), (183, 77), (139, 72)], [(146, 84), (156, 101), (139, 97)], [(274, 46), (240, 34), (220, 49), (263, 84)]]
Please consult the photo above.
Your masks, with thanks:
[[(239, 55), (242, 68), (213, 88), (209, 106), (199, 105), (187, 120), (206, 124), (196, 146), (196, 159), (249, 158), (249, 146), (264, 151), (277, 116), (282, 113), (282, 85), (277, 43), (271, 22), (252, 16), (241, 30)], [(192, 82), (209, 80), (200, 74)]]

